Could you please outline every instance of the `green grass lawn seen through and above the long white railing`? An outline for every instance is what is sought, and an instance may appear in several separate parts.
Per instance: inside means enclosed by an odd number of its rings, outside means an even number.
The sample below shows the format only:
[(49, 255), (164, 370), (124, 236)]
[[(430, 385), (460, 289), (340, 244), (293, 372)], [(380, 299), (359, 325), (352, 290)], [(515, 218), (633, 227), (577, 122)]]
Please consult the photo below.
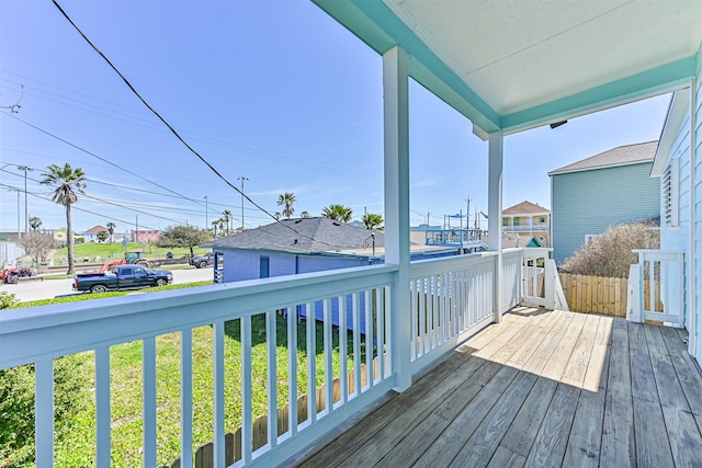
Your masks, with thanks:
[[(178, 287), (211, 284), (203, 282), (190, 285), (169, 285), (150, 288), (148, 293), (173, 289)], [(89, 300), (99, 297), (113, 297), (128, 293), (105, 293), (104, 295), (72, 296), (58, 301)], [(42, 303), (42, 304), (39, 304)], [(48, 301), (24, 303), (18, 307), (31, 307)], [(291, 319), (295, 320), (294, 315)], [(276, 315), (276, 362), (278, 395), (280, 404), (284, 404), (288, 396), (287, 386), (287, 319)], [(307, 392), (306, 334), (305, 322), (297, 323), (297, 393)], [(340, 373), (339, 330), (333, 329), (333, 377)], [(316, 385), (324, 383), (324, 332), (320, 323), (316, 323)], [(157, 336), (157, 427), (158, 427), (158, 464), (170, 465), (179, 457), (180, 445), (180, 333), (168, 333)], [(349, 342), (351, 339), (349, 338)], [(253, 418), (268, 412), (268, 376), (265, 347), (264, 315), (252, 318), (252, 363), (253, 363)], [(352, 347), (348, 350), (352, 356)], [(364, 350), (362, 351), (364, 354)], [(75, 402), (81, 408), (78, 415), (70, 421), (70, 431), (56, 441), (56, 466), (76, 467), (91, 466), (94, 460), (95, 446), (95, 404), (94, 404), (94, 353), (77, 355), (78, 370), (84, 375), (84, 388), (75, 395)], [(362, 356), (362, 358), (364, 358)], [(213, 329), (201, 327), (193, 330), (193, 441), (194, 448), (211, 442), (214, 437), (213, 418)], [(349, 361), (349, 368), (353, 366)], [(111, 418), (112, 449), (114, 467), (133, 467), (141, 463), (141, 342), (118, 344), (111, 347)], [(241, 423), (241, 343), (238, 320), (225, 324), (225, 429), (234, 432)], [(1, 452), (1, 450), (0, 450)], [(0, 466), (2, 459), (0, 457)], [(22, 465), (10, 465), (22, 466)]]

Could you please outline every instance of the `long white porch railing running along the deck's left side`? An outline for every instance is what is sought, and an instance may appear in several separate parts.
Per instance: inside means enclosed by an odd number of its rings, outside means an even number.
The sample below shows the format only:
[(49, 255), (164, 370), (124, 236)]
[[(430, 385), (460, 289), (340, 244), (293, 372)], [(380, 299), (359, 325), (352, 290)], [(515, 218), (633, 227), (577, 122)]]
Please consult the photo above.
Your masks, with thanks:
[[(517, 305), (523, 297), (522, 270), (535, 249), (514, 249), (502, 254), (502, 304), (500, 311)], [(214, 368), (214, 460), (217, 467), (234, 460), (225, 452), (225, 373), (231, 363), (225, 359), (225, 323), (235, 321), (240, 328), (241, 351), (241, 460), (240, 465), (272, 466), (317, 441), (343, 424), (364, 408), (378, 401), (396, 381), (392, 353), (406, 343), (411, 358), (411, 372), (418, 373), (446, 351), (489, 324), (494, 313), (496, 252), (458, 255), (414, 262), (410, 285), (410, 315), (395, 315), (390, 298), (396, 285), (397, 267), (376, 265), (335, 272), (275, 277), (261, 281), (218, 284), (196, 289), (155, 293), (120, 297), (100, 301), (84, 301), (0, 313), (0, 369), (24, 364), (35, 365), (36, 396), (36, 465), (54, 465), (54, 359), (60, 356), (94, 352), (95, 404), (95, 466), (110, 466), (112, 449), (111, 346), (140, 341), (143, 350), (143, 465), (155, 467), (172, 460), (159, 459), (157, 454), (157, 336), (180, 335), (180, 458), (193, 459), (193, 330), (212, 327)], [(521, 267), (520, 267), (521, 266)], [(520, 287), (522, 285), (522, 287)], [(299, 307), (312, 311), (322, 307), (324, 364), (318, 369), (316, 355), (317, 328), (314, 321), (305, 327), (306, 359), (297, 367), (297, 313)], [(276, 343), (276, 320), (287, 318), (286, 345), (280, 351)], [(253, 446), (251, 401), (261, 391), (252, 377), (251, 319), (265, 317), (267, 408), (268, 434), (265, 444)], [(365, 327), (360, 330), (364, 316)], [(395, 317), (410, 317), (411, 334), (394, 336)], [(350, 333), (339, 333), (332, 322)], [(332, 350), (332, 340), (339, 350)], [(258, 336), (260, 339), (260, 336)], [(399, 345), (398, 345), (399, 344)], [(366, 346), (367, 345), (367, 346)], [(353, 350), (348, 354), (347, 350)], [(362, 353), (364, 351), (364, 353)], [(284, 356), (281, 356), (281, 353)], [(362, 357), (363, 356), (363, 357)], [(286, 377), (278, 368), (279, 358), (286, 362)], [(373, 361), (376, 361), (375, 370)], [(362, 369), (365, 375), (361, 375)], [(308, 379), (298, 391), (301, 373), (322, 375), (324, 404), (317, 404), (316, 383)], [(281, 379), (286, 379), (287, 398), (279, 397)], [(337, 383), (335, 383), (337, 380)], [(335, 393), (335, 387), (338, 393)], [(233, 389), (227, 388), (227, 391)], [(307, 393), (307, 414), (298, 421), (298, 393)], [(279, 429), (276, 409), (288, 406), (286, 426)], [(202, 415), (199, 415), (202, 416)], [(304, 421), (302, 421), (304, 420)], [(228, 427), (231, 430), (231, 427)], [(183, 463), (181, 466), (190, 466)]]

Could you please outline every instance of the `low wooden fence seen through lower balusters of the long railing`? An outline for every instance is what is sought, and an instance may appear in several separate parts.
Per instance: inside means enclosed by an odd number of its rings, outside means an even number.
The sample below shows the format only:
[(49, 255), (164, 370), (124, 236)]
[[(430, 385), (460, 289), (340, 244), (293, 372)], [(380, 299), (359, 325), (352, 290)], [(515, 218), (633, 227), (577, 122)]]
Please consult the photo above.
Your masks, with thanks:
[[(376, 379), (378, 373), (377, 356), (373, 358), (373, 379)], [(366, 385), (366, 367), (365, 363), (361, 363), (361, 387)], [(354, 384), (355, 372), (349, 370), (348, 387), (349, 395), (353, 393), (355, 388)], [(326, 408), (326, 386), (317, 388), (317, 410), (320, 412)], [(341, 400), (341, 384), (339, 377), (333, 379), (333, 402)], [(302, 395), (297, 398), (297, 423), (307, 421), (307, 395)], [(282, 435), (290, 430), (290, 409), (288, 404), (278, 409), (278, 435)], [(253, 450), (261, 448), (268, 443), (268, 414), (258, 416), (253, 421), (253, 430), (251, 431), (253, 438)], [(214, 444), (212, 442), (201, 445), (195, 450), (194, 468), (213, 468), (214, 467)], [(241, 459), (241, 426), (231, 433), (225, 435), (225, 463), (227, 466)], [(160, 468), (181, 468), (180, 458), (174, 460), (171, 465), (163, 465)], [(183, 468), (190, 468), (190, 465), (183, 465)]]

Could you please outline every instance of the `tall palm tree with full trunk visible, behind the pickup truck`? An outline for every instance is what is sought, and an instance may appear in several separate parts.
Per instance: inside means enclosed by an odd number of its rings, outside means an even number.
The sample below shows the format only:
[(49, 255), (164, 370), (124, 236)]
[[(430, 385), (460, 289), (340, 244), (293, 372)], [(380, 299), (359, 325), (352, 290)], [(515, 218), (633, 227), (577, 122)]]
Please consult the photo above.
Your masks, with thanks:
[(68, 274), (73, 273), (76, 260), (73, 259), (73, 229), (70, 217), (70, 206), (78, 202), (78, 194), (86, 192), (86, 174), (80, 168), (75, 170), (67, 162), (63, 168), (60, 165), (48, 165), (46, 172), (42, 173), (44, 178), (41, 184), (52, 185), (56, 189), (52, 195), (52, 199), (66, 207), (66, 230), (68, 231)]

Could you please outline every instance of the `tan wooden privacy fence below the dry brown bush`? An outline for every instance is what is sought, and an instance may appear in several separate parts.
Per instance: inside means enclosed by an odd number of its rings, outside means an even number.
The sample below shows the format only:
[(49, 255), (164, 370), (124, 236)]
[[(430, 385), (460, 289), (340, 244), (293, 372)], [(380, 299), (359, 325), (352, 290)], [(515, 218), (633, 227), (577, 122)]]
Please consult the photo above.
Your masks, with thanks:
[[(571, 275), (559, 273), (566, 303), (573, 312), (602, 313), (604, 316), (626, 317), (626, 298), (629, 284), (626, 278), (609, 278), (602, 276)], [(645, 297), (648, 298), (650, 282), (645, 282)], [(655, 282), (660, 290), (660, 282)], [(658, 294), (656, 297), (660, 297)], [(648, 299), (646, 299), (648, 300)], [(648, 304), (646, 304), (648, 306)], [(663, 310), (660, 299), (656, 301), (656, 310)]]

